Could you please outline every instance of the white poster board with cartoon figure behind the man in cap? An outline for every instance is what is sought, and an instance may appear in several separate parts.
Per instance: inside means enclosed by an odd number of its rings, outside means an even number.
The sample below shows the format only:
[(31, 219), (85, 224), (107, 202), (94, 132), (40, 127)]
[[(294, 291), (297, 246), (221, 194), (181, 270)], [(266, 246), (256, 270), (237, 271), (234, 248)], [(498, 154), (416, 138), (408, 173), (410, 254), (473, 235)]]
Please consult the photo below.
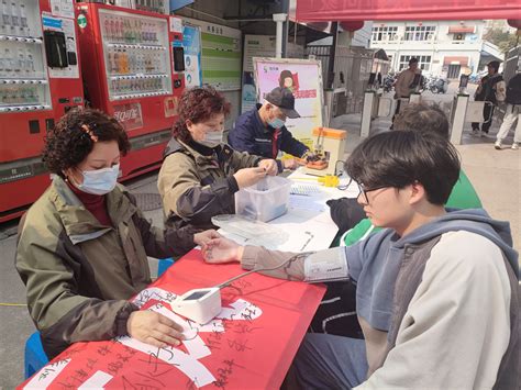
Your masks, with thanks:
[(292, 58), (253, 58), (257, 101), (276, 87), (286, 87), (295, 96), (300, 118), (286, 121), (293, 137), (313, 147), (312, 131), (322, 126), (323, 91), (320, 60)]

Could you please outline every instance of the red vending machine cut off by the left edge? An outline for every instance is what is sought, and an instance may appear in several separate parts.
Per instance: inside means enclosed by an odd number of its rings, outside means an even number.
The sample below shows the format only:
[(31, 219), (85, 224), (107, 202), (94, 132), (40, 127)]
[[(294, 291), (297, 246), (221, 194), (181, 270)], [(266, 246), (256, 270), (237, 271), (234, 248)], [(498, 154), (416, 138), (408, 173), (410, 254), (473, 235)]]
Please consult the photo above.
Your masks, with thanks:
[(0, 222), (48, 186), (45, 133), (84, 103), (74, 0), (54, 3), (0, 0)]

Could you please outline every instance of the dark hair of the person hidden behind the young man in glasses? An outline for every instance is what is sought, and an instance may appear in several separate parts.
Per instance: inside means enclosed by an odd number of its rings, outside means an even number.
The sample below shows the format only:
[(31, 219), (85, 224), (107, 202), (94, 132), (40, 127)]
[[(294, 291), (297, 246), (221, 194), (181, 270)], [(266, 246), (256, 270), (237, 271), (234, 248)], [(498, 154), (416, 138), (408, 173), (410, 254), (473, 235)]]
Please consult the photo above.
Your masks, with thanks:
[(437, 104), (407, 104), (396, 115), (393, 129), (434, 132), (448, 138), (448, 120)]

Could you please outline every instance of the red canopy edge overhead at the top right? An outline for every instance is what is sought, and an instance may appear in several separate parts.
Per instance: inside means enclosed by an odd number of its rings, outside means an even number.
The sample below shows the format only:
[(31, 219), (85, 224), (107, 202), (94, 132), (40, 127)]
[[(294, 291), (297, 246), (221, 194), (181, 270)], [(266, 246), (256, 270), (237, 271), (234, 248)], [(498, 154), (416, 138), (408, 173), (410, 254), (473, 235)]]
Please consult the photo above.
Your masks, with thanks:
[(297, 0), (297, 21), (521, 19), (521, 0)]

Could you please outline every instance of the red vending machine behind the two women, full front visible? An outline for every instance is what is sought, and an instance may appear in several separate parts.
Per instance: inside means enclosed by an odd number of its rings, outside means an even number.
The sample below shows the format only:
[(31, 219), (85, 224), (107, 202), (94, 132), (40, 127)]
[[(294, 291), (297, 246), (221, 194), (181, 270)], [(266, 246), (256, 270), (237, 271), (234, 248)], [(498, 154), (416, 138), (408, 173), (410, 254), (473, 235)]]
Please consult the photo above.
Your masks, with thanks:
[(120, 179), (160, 166), (184, 89), (180, 19), (102, 3), (79, 3), (86, 100), (119, 119), (131, 152)]

